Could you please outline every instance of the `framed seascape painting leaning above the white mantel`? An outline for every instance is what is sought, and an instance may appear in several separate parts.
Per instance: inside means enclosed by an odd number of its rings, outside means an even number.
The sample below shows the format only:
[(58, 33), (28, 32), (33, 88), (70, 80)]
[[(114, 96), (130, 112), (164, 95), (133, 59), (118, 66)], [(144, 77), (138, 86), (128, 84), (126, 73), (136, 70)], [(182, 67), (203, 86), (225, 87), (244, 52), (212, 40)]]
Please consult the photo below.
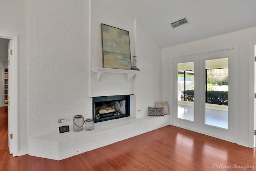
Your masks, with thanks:
[(132, 70), (129, 32), (101, 24), (103, 68)]

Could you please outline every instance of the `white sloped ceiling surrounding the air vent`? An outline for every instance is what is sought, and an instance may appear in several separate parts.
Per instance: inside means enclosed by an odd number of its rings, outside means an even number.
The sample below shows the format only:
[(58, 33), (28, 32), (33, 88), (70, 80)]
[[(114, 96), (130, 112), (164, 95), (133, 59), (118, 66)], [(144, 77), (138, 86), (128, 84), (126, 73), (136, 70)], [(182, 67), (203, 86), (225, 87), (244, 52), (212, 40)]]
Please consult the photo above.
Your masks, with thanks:
[[(162, 48), (256, 26), (256, 0), (117, 1)], [(170, 26), (183, 18), (189, 24)]]

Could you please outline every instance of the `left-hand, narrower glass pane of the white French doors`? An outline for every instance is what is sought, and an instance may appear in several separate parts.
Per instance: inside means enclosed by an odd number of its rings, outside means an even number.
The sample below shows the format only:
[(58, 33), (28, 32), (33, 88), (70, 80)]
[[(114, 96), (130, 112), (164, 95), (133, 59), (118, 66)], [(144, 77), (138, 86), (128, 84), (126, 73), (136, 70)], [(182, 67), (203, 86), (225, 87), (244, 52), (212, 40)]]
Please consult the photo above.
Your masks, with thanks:
[(178, 118), (194, 121), (194, 62), (178, 64)]

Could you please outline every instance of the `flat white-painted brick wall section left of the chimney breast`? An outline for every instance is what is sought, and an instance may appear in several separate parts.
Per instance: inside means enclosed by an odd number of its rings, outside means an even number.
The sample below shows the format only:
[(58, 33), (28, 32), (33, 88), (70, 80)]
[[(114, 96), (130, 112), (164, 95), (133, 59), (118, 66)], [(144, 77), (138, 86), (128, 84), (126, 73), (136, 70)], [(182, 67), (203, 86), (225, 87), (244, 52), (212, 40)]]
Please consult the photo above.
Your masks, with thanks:
[[(88, 99), (88, 0), (28, 2), (28, 135), (56, 133)], [(89, 105), (90, 104), (90, 105)]]

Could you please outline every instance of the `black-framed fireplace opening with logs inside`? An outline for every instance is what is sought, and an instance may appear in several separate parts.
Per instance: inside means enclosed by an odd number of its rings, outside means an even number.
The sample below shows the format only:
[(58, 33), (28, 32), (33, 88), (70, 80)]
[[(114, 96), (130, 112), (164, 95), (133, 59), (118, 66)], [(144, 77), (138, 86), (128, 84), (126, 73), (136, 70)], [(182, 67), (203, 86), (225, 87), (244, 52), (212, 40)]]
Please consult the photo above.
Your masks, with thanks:
[(130, 116), (130, 95), (101, 96), (92, 98), (94, 122)]

